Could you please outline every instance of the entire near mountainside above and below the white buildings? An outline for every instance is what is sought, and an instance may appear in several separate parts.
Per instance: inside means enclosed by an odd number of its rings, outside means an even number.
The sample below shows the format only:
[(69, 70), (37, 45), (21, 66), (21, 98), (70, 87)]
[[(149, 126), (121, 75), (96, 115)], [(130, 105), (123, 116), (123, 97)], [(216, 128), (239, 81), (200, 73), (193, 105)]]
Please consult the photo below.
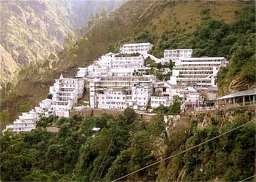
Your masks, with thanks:
[[(255, 1), (128, 1), (107, 16), (89, 18), (82, 32), (76, 39), (68, 36), (64, 50), (43, 65), (20, 71), (19, 83), (2, 99), (1, 121), (4, 114), (12, 122), (46, 98), (60, 73), (72, 76), (78, 67), (130, 42), (151, 42), (156, 57), (168, 48), (225, 56), (229, 63), (218, 73), (219, 95), (255, 87)], [(121, 180), (241, 181), (255, 174), (254, 111), (190, 113), (187, 119), (180, 117), (174, 126), (175, 120), (166, 124), (160, 113), (143, 122), (129, 108), (120, 115), (42, 118), (32, 132), (1, 136), (1, 177), (113, 181), (230, 130)], [(59, 132), (47, 132), (47, 126)], [(101, 130), (92, 133), (93, 127)]]

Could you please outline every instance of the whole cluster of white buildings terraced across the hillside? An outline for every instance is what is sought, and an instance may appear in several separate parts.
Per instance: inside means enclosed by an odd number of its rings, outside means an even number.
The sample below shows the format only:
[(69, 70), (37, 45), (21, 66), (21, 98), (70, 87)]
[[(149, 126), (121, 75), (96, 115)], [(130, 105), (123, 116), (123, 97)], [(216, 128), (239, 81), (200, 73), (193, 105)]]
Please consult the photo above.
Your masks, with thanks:
[[(223, 104), (255, 104), (255, 89), (218, 98), (216, 76), (228, 63), (225, 57), (192, 57), (192, 49), (169, 49), (159, 59), (148, 53), (152, 46), (124, 44), (118, 53), (109, 52), (94, 64), (79, 67), (72, 78), (61, 74), (50, 87), (47, 99), (22, 113), (5, 131), (31, 131), (40, 117), (69, 117), (74, 109), (131, 107), (136, 112), (154, 113), (155, 108), (168, 107), (175, 99), (181, 101), (182, 112), (218, 109)], [(146, 60), (169, 66), (150, 67)], [(152, 70), (170, 77), (159, 80)], [(81, 104), (88, 92), (90, 99)]]

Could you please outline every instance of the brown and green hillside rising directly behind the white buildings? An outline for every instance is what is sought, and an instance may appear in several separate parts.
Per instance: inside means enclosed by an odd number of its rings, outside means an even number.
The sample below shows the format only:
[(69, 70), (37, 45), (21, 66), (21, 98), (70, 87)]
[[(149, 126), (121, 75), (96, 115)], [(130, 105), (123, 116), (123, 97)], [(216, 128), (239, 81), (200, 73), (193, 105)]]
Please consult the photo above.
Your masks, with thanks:
[(255, 1), (128, 1), (108, 16), (91, 17), (85, 28), (85, 36), (67, 38), (64, 50), (45, 60), (44, 71), (30, 65), (20, 73), (18, 85), (2, 99), (6, 123), (45, 98), (61, 72), (74, 75), (77, 67), (129, 42), (151, 42), (156, 57), (168, 48), (227, 57), (228, 67), (218, 75), (219, 95), (255, 85)]

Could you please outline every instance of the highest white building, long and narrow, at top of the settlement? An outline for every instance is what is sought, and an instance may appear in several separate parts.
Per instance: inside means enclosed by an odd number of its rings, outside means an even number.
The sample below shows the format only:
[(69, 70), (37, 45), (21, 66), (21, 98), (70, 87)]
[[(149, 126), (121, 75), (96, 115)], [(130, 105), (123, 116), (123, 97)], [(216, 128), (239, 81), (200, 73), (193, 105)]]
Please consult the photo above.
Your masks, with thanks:
[(136, 43), (136, 44), (124, 44), (120, 48), (121, 53), (147, 53), (152, 49), (153, 45), (150, 43)]

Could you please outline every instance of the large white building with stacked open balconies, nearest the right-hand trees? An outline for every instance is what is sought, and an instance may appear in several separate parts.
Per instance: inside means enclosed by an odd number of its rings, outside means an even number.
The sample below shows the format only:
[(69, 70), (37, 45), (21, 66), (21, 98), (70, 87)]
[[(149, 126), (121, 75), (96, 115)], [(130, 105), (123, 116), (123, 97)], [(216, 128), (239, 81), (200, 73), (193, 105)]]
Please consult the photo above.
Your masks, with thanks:
[(226, 64), (224, 57), (180, 58), (173, 67), (169, 83), (207, 89), (216, 86), (217, 73)]

